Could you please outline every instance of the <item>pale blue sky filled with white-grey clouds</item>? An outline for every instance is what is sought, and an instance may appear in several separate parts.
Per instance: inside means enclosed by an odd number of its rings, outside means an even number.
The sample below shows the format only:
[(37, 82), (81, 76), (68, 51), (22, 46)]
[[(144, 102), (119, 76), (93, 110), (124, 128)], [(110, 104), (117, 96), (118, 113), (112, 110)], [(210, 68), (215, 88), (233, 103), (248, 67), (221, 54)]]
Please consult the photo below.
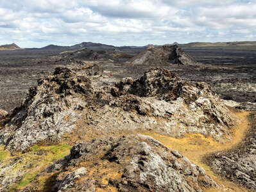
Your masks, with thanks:
[(0, 44), (256, 40), (256, 0), (0, 0)]

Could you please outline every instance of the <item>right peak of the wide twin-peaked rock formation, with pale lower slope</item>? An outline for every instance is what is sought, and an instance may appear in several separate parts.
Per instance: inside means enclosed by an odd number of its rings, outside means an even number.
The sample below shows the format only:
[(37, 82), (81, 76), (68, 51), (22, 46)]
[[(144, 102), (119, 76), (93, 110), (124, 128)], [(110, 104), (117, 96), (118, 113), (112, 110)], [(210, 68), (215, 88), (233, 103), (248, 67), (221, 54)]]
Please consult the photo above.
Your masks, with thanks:
[[(154, 131), (182, 137), (198, 132), (217, 140), (228, 136), (235, 116), (206, 83), (189, 83), (163, 68), (153, 68), (140, 79), (124, 79), (112, 88), (112, 106), (151, 116)], [(162, 130), (162, 131), (161, 131)]]

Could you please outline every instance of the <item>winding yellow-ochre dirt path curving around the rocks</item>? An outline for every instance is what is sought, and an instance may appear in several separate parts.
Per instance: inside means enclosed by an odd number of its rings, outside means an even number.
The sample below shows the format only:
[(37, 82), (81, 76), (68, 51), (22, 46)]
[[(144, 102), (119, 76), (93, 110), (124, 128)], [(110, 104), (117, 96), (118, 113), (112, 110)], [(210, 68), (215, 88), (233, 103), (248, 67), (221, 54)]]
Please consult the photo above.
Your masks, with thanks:
[(185, 138), (171, 138), (169, 136), (164, 136), (161, 134), (143, 132), (142, 134), (146, 134), (152, 136), (157, 139), (167, 147), (173, 148), (175, 150), (179, 150), (182, 154), (187, 157), (192, 163), (197, 164), (205, 169), (206, 173), (210, 175), (218, 184), (223, 185), (223, 188), (214, 190), (214, 189), (206, 189), (206, 192), (214, 192), (214, 191), (228, 191), (228, 192), (239, 192), (239, 191), (248, 191), (248, 189), (244, 189), (241, 186), (230, 182), (226, 179), (221, 178), (219, 175), (216, 175), (210, 167), (204, 163), (204, 157), (209, 156), (209, 154), (213, 154), (216, 152), (221, 152), (225, 150), (230, 150), (244, 139), (244, 136), (248, 129), (250, 128), (248, 124), (247, 116), (250, 113), (247, 111), (242, 111), (237, 113), (237, 117), (241, 122), (234, 128), (234, 137), (232, 141), (227, 141), (225, 144), (219, 143), (212, 138), (206, 138), (202, 134), (187, 134)]

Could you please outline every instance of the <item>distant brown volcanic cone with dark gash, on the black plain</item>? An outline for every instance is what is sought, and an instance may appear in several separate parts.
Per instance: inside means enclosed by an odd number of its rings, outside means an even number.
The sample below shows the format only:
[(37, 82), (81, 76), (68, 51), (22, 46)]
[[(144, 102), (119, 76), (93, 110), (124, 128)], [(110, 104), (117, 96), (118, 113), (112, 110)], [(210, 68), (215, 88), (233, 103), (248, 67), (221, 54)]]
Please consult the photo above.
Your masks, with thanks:
[(178, 45), (164, 45), (162, 47), (148, 47), (126, 63), (143, 66), (162, 66), (167, 63), (178, 65), (196, 65), (196, 61)]

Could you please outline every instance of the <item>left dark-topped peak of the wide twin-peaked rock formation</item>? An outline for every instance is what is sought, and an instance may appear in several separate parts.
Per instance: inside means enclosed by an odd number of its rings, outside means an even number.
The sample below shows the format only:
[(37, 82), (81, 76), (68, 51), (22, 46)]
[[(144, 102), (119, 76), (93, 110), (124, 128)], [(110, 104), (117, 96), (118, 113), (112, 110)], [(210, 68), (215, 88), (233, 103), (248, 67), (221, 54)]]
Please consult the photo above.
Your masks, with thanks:
[[(78, 96), (78, 94), (80, 94)], [(92, 97), (90, 79), (76, 76), (68, 68), (56, 68), (53, 76), (38, 80), (38, 86), (15, 108), (0, 135), (0, 143), (9, 150), (26, 150), (40, 141), (59, 140), (71, 132), (74, 122)]]

